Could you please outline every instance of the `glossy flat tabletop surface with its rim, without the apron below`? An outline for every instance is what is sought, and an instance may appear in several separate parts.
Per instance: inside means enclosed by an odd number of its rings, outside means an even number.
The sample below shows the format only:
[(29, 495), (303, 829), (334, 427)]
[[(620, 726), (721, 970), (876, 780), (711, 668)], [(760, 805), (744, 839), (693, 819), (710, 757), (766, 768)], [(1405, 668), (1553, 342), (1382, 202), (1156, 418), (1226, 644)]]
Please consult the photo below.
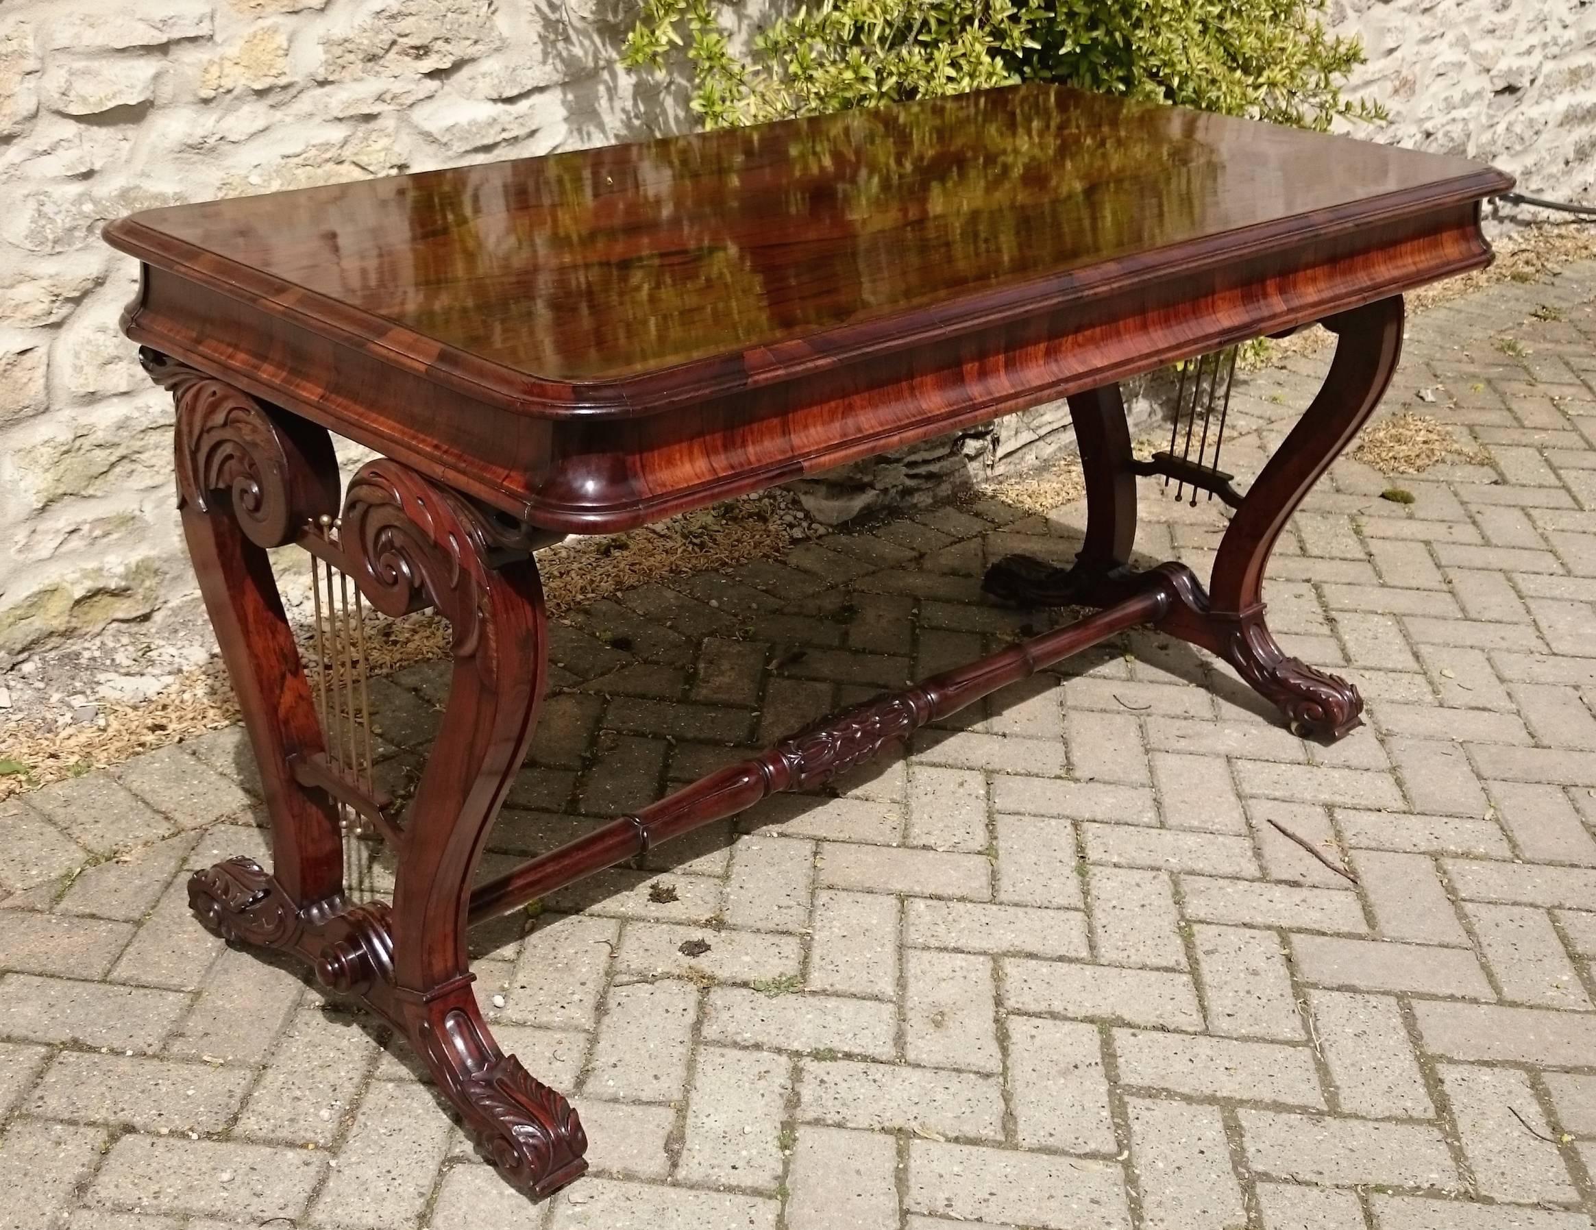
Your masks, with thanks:
[(397, 329), (484, 384), (570, 386), (559, 413), (646, 400), (662, 370), (680, 386), (795, 340), (841, 357), (1084, 292), (1093, 273), (1507, 183), (1459, 158), (1031, 85), (174, 206), (109, 238), (365, 338)]

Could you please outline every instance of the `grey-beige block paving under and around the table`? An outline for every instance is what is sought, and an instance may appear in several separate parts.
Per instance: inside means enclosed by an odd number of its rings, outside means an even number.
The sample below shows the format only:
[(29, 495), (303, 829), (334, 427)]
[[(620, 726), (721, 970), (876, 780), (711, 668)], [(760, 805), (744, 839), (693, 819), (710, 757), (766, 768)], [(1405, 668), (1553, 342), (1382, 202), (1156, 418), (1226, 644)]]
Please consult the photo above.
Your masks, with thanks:
[[(263, 854), (236, 731), (5, 804), (0, 1227), (1591, 1230), (1593, 298), (1417, 317), (1387, 407), (1487, 459), (1411, 504), (1344, 459), (1293, 522), (1272, 624), (1368, 697), (1341, 743), (1138, 632), (484, 930), (500, 1039), (592, 1137), (544, 1204), (380, 1027), (188, 919), (187, 869)], [(1246, 381), (1231, 463), (1321, 367)], [(1205, 571), (1218, 503), (1143, 515)], [(980, 573), (1080, 523), (940, 507), (583, 611), (490, 863), (1047, 622)], [(394, 772), (440, 688), (378, 689)]]

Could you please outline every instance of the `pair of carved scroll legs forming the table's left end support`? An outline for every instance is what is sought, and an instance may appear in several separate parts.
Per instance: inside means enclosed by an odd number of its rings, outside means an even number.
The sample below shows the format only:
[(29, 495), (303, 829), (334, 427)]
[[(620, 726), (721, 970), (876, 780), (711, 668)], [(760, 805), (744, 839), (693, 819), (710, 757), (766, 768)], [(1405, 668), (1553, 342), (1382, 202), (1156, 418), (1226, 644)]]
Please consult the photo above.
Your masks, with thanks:
[(217, 935), (292, 952), (394, 1024), (477, 1150), (547, 1195), (586, 1169), (586, 1136), (565, 1098), (495, 1043), (466, 956), (471, 877), (543, 694), (536, 565), (472, 504), (404, 466), (373, 461), (350, 482), (340, 566), (378, 609), (431, 605), (453, 633), (440, 731), (412, 806), (389, 825), (394, 905), (350, 905), (334, 798), (294, 772), (324, 753), (324, 735), (267, 558), (338, 511), (330, 439), (161, 356), (145, 365), (176, 396), (184, 530), (271, 817), (271, 873), (249, 858), (217, 863), (190, 879), (190, 905)]

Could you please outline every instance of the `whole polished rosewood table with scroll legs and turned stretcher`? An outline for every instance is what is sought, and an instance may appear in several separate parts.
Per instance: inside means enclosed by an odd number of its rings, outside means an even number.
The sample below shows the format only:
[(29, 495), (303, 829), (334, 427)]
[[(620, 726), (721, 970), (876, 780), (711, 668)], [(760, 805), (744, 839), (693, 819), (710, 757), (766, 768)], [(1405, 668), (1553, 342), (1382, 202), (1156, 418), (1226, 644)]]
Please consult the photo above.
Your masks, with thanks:
[[(466, 928), (782, 790), (806, 790), (993, 689), (1151, 624), (1227, 660), (1301, 732), (1361, 700), (1282, 652), (1261, 581), (1293, 509), (1396, 365), (1401, 294), (1486, 265), (1457, 158), (1052, 86), (547, 158), (155, 209), (123, 327), (176, 397), (182, 525), (260, 766), (273, 869), (200, 871), (200, 921), (310, 962), (402, 1032), (485, 1158), (546, 1195), (583, 1173), (563, 1096), (493, 1040)], [(1321, 322), (1323, 388), (1250, 485), (1192, 458), (1203, 359)], [(1116, 381), (1187, 364), (1192, 418), (1132, 456)], [(996, 595), (1098, 608), (476, 885), (546, 672), (535, 550), (1068, 397), (1087, 475), (1068, 570), (1010, 558)], [(378, 453), (345, 485), (335, 432)], [(1207, 589), (1130, 566), (1138, 475), (1234, 506)], [(409, 807), (372, 782), (359, 689), (313, 686), (267, 550), (431, 606), (453, 683)], [(346, 590), (345, 590), (346, 592)], [(321, 585), (318, 585), (321, 601)], [(353, 629), (353, 632), (351, 632)], [(362, 729), (364, 726), (364, 729)], [(354, 903), (340, 820), (396, 855)]]

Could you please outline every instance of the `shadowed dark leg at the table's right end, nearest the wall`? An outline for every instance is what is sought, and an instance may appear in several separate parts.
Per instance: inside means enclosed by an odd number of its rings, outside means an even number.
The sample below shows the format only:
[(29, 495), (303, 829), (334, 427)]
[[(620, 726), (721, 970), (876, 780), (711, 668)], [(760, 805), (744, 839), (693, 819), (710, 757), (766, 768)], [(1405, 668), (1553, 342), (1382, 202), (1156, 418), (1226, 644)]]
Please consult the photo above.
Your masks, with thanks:
[(1136, 541), (1136, 475), (1130, 469), (1130, 426), (1119, 384), (1077, 392), (1069, 415), (1087, 482), (1087, 534), (1076, 562), (1055, 568), (1029, 555), (1007, 555), (986, 570), (982, 589), (1025, 606), (1124, 598), (1125, 565)]

